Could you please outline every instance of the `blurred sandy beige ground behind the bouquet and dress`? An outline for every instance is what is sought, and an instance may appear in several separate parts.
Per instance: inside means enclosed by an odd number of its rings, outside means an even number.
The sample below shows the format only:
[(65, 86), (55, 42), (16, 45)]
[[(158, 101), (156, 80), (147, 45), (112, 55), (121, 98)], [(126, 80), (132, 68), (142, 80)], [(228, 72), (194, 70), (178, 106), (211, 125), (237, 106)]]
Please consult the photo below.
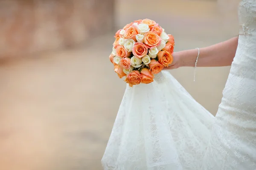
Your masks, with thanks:
[[(127, 11), (135, 2), (135, 12)], [(116, 26), (156, 20), (175, 35), (175, 51), (233, 36), (234, 30), (221, 25), (213, 1), (147, 2), (120, 0)], [(109, 33), (82, 48), (0, 64), (1, 170), (102, 170), (100, 160), (125, 90), (108, 59), (113, 40)], [(198, 68), (195, 82), (192, 68), (171, 73), (215, 115), (229, 69)]]

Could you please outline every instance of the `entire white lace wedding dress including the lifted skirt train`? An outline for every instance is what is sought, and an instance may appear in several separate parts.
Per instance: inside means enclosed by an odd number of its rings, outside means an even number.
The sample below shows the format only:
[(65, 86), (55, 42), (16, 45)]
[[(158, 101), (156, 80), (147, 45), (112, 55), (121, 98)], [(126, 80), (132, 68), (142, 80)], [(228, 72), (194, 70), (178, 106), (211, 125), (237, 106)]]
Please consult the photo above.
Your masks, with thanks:
[(256, 0), (242, 0), (239, 45), (214, 118), (162, 71), (125, 90), (104, 170), (256, 170)]

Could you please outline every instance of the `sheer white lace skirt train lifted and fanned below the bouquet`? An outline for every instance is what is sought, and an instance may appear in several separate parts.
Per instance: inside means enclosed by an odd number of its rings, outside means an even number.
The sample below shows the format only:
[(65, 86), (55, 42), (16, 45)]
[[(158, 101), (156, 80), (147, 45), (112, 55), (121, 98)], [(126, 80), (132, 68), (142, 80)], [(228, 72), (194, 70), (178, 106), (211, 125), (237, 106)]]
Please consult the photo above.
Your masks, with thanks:
[(109, 138), (104, 170), (198, 170), (214, 116), (166, 71), (127, 86)]

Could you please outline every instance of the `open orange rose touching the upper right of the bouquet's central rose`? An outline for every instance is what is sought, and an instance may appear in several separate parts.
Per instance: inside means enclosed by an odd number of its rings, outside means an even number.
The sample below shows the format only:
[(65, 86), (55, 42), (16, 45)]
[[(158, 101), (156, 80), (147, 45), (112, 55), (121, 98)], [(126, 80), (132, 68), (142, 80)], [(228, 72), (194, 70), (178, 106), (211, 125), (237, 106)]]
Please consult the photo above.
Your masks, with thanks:
[(158, 46), (160, 43), (161, 43), (161, 37), (159, 35), (157, 35), (155, 32), (147, 32), (145, 35), (144, 35), (144, 43), (145, 45), (152, 49), (156, 46)]

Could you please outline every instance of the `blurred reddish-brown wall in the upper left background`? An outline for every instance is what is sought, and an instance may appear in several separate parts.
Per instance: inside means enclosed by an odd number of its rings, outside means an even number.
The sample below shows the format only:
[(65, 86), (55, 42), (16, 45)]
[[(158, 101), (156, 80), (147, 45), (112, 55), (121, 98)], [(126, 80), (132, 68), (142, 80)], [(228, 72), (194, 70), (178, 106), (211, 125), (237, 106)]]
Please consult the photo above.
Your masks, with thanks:
[(0, 0), (0, 58), (87, 43), (112, 29), (113, 11), (114, 0)]

